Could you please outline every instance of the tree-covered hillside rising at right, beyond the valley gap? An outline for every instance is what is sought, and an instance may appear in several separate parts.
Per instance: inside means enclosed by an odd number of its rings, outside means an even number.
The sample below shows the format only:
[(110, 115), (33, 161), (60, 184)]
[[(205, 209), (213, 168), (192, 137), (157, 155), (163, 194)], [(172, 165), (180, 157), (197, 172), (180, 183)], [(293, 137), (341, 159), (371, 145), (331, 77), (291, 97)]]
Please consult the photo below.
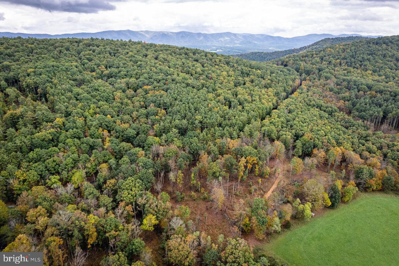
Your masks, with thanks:
[(373, 127), (399, 122), (399, 37), (366, 39), (276, 60), (302, 79), (320, 81), (326, 97)]

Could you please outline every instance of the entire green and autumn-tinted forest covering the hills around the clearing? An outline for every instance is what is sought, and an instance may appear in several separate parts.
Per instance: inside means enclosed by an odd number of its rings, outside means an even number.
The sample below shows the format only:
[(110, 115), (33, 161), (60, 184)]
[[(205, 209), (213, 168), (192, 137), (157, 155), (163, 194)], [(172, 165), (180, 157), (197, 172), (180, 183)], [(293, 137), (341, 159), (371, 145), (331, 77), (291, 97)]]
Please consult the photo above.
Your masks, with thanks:
[(286, 264), (253, 248), (358, 191), (399, 191), (399, 36), (329, 44), (253, 62), (0, 38), (2, 250), (60, 266)]

